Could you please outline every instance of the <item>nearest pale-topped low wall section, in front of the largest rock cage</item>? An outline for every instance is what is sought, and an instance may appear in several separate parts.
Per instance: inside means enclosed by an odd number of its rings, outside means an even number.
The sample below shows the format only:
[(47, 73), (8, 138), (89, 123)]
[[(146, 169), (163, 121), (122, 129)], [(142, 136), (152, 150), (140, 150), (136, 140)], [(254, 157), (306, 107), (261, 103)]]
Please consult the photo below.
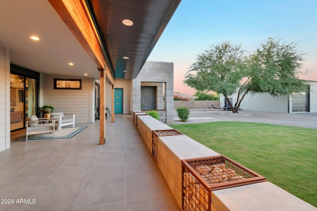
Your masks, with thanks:
[(270, 182), (212, 191), (211, 205), (218, 211), (317, 211)]

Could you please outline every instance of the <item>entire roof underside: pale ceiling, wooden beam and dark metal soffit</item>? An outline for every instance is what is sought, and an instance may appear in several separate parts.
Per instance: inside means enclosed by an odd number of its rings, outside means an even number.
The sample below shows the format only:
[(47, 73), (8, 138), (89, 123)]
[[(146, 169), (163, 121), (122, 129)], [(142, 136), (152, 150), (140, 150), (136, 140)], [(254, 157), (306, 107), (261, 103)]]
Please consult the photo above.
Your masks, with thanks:
[[(50, 2), (62, 7), (56, 9)], [(10, 49), (10, 62), (45, 74), (95, 79), (99, 78), (97, 68), (104, 68), (114, 80), (137, 76), (180, 0), (50, 2), (0, 2), (0, 46)], [(68, 11), (65, 6), (72, 3), (84, 14), (76, 24), (72, 9)], [(132, 20), (133, 26), (123, 25), (123, 19)], [(82, 26), (90, 35), (81, 31)], [(31, 41), (31, 35), (41, 40)], [(69, 62), (74, 65), (69, 66)]]

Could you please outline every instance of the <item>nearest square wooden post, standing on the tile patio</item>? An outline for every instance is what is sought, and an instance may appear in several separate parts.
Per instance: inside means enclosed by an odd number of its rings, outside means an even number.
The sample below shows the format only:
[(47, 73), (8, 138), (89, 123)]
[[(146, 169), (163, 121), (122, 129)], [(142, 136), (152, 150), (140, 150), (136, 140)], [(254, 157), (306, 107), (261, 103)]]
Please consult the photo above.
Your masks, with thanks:
[(99, 144), (105, 144), (106, 141), (106, 73), (104, 69), (99, 69), (100, 80), (100, 139)]

